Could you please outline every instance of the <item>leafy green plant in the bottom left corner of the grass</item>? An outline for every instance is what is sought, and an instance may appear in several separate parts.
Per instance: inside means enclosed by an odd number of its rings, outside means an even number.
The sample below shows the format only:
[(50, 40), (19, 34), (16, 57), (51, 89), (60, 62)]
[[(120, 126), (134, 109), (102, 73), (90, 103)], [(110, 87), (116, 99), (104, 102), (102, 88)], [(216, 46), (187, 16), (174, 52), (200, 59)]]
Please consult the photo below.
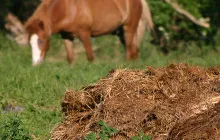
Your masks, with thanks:
[(0, 124), (1, 140), (31, 140), (27, 129), (24, 128), (18, 116), (10, 117), (5, 124)]

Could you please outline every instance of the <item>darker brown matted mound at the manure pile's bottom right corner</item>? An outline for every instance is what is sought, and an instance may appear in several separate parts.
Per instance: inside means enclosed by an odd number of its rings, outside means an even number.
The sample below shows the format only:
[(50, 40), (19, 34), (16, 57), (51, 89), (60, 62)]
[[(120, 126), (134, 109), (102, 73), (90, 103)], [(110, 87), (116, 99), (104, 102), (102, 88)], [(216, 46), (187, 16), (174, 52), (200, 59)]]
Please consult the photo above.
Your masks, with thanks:
[(168, 138), (168, 140), (219, 140), (220, 103), (203, 114), (177, 123)]

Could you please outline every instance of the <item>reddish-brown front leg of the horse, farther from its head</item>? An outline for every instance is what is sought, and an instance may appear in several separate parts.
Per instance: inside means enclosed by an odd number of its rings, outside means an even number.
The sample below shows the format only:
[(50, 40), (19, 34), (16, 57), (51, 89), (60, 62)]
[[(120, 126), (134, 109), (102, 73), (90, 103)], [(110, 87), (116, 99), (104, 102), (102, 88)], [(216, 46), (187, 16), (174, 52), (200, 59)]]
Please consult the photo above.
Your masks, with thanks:
[(93, 51), (92, 51), (92, 44), (90, 40), (91, 33), (89, 31), (81, 31), (79, 33), (79, 39), (82, 41), (85, 50), (87, 58), (90, 62), (94, 60)]

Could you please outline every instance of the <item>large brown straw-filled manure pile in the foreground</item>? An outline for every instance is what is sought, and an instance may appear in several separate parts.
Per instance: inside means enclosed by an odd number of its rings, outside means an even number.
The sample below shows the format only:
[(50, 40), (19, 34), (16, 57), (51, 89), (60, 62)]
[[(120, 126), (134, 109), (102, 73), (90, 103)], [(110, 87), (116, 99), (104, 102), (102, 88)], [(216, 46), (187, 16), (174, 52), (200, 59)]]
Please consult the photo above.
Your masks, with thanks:
[(53, 140), (83, 139), (100, 131), (99, 120), (119, 130), (114, 140), (141, 131), (153, 140), (219, 140), (220, 67), (112, 70), (95, 85), (66, 92), (62, 111)]

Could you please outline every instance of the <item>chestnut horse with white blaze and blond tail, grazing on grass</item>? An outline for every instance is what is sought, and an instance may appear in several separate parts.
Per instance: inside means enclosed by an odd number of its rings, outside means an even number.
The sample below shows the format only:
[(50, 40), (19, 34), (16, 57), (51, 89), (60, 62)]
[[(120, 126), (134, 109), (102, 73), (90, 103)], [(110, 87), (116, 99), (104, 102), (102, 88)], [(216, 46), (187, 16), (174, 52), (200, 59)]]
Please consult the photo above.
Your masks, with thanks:
[(117, 29), (123, 31), (126, 59), (136, 59), (146, 28), (152, 29), (153, 22), (145, 0), (43, 0), (26, 23), (33, 65), (44, 60), (52, 34), (60, 33), (65, 39), (71, 63), (75, 37), (83, 42), (87, 58), (92, 61), (90, 37), (117, 33)]

